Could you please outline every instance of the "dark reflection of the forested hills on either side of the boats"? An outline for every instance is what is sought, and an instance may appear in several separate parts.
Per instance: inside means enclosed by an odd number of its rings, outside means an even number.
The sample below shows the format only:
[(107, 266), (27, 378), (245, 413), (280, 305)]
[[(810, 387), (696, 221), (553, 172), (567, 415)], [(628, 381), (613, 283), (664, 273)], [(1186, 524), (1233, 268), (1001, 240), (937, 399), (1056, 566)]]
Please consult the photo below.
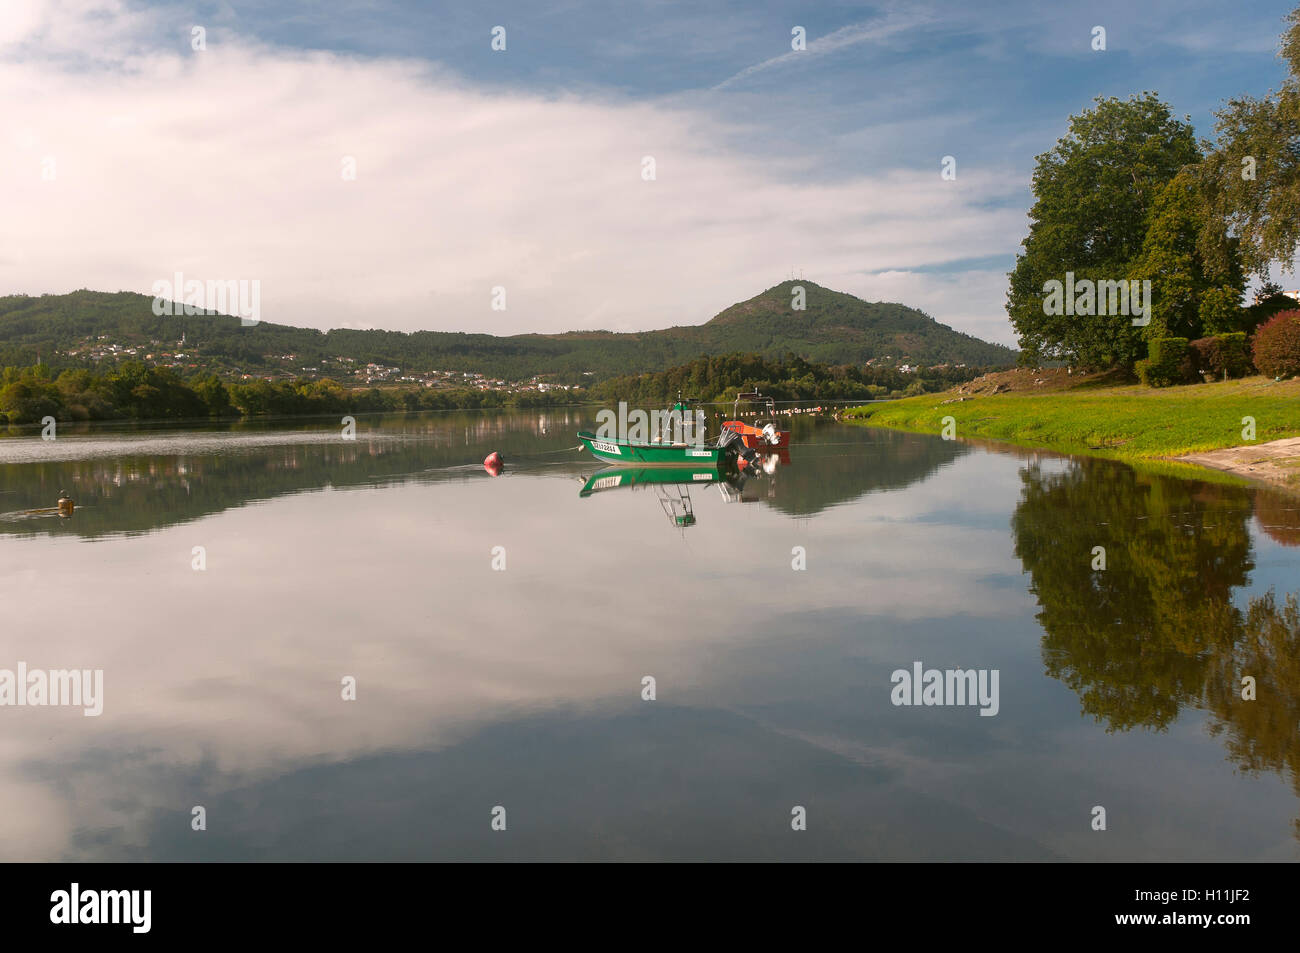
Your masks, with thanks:
[[(325, 423), (0, 441), (0, 537), (138, 534), (324, 488), (476, 480), (493, 450), (503, 452), (511, 476), (585, 476), (598, 464), (571, 446), (571, 434), (589, 424), (580, 411), (452, 413), (361, 419), (355, 441)], [(742, 481), (750, 484), (744, 499), (811, 516), (924, 480), (970, 452), (953, 442), (811, 420), (794, 428), (797, 465), (789, 454), (775, 458), (780, 473)], [(64, 491), (75, 501), (73, 519), (30, 512), (55, 506)]]

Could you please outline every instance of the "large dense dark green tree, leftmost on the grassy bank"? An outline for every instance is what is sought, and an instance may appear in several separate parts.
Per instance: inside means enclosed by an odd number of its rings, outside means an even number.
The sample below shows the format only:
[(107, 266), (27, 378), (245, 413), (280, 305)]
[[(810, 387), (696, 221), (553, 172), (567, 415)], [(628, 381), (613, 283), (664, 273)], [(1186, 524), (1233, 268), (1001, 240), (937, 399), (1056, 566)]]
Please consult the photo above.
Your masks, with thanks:
[(1149, 213), (1165, 187), (1200, 160), (1188, 122), (1156, 94), (1098, 98), (1070, 118), (1069, 133), (1037, 157), (1030, 234), (1010, 274), (1006, 311), (1022, 360), (1065, 359), (1083, 367), (1132, 364), (1145, 352), (1127, 315), (1045, 313), (1044, 282), (1141, 280)]

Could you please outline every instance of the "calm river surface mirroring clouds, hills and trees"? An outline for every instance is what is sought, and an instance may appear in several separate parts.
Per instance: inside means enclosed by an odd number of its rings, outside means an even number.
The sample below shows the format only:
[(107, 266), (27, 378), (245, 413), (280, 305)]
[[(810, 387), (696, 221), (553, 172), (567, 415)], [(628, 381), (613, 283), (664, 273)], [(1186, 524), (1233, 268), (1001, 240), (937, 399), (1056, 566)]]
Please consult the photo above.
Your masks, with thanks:
[(0, 668), (105, 694), (0, 707), (0, 858), (1300, 857), (1295, 499), (811, 420), (589, 484), (590, 424), (0, 441)]

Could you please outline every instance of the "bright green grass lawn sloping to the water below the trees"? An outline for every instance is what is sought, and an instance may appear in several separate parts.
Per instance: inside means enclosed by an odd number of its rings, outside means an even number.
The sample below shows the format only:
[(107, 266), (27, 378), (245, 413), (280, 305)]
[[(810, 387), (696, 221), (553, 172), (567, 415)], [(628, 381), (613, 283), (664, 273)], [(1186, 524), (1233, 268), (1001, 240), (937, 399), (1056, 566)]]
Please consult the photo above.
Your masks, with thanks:
[(1256, 443), (1300, 436), (1300, 380), (1247, 377), (1160, 389), (1084, 386), (942, 403), (954, 395), (946, 391), (868, 404), (854, 408), (848, 417), (871, 426), (937, 434), (942, 419), (952, 416), (958, 439), (996, 439), (1124, 460), (1169, 459), (1245, 445), (1245, 416), (1254, 417)]

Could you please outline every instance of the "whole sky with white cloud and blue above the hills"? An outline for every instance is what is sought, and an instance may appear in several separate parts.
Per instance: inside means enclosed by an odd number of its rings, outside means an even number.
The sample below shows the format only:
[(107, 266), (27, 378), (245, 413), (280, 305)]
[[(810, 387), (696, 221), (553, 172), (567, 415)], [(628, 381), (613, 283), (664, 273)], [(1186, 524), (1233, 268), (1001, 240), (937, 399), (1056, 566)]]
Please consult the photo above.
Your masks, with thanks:
[(0, 0), (0, 294), (514, 334), (803, 277), (1014, 345), (1035, 156), (1144, 90), (1210, 137), (1291, 7)]

